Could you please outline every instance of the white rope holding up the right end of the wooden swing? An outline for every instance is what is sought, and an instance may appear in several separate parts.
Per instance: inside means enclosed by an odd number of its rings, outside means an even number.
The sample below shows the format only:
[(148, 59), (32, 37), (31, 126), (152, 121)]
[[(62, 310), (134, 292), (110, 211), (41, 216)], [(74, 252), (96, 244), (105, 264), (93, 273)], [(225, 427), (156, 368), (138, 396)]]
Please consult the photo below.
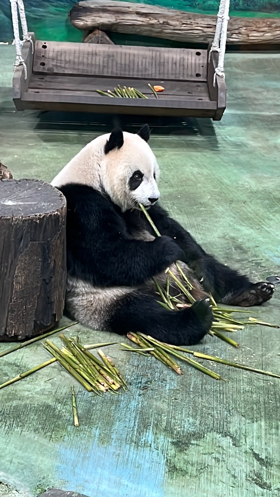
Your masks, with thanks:
[(215, 69), (214, 81), (213, 84), (216, 84), (217, 75), (221, 78), (225, 77), (225, 69), (224, 69), (224, 59), (226, 53), (226, 43), (227, 43), (227, 30), (228, 30), (228, 21), (229, 21), (229, 8), (230, 8), (230, 0), (221, 0), (219, 12), (218, 12), (218, 21), (214, 36), (214, 41), (212, 43), (209, 58), (211, 52), (219, 52), (219, 60), (218, 66)]

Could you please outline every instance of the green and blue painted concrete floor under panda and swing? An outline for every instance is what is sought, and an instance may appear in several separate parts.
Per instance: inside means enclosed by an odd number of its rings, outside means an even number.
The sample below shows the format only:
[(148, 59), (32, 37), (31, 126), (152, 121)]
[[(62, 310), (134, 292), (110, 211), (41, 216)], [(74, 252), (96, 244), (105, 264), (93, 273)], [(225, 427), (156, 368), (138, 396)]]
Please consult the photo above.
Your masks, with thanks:
[[(15, 178), (50, 181), (116, 119), (16, 113), (13, 60), (14, 47), (0, 46), (0, 159)], [(221, 122), (150, 119), (150, 145), (171, 214), (206, 250), (261, 280), (280, 273), (280, 54), (230, 53), (226, 74)], [(122, 119), (128, 131), (141, 122)], [(276, 289), (252, 315), (280, 324), (279, 302)], [(67, 333), (77, 332), (84, 343), (116, 339), (78, 325)], [(210, 336), (195, 348), (279, 373), (279, 334), (256, 327), (234, 333), (239, 349)], [(229, 382), (186, 366), (178, 377), (153, 358), (107, 351), (131, 391), (93, 398), (76, 385), (79, 428), (72, 380), (56, 364), (1, 390), (1, 497), (51, 486), (90, 497), (280, 495), (280, 380), (217, 364)], [(3, 357), (0, 382), (46, 357), (39, 342)]]

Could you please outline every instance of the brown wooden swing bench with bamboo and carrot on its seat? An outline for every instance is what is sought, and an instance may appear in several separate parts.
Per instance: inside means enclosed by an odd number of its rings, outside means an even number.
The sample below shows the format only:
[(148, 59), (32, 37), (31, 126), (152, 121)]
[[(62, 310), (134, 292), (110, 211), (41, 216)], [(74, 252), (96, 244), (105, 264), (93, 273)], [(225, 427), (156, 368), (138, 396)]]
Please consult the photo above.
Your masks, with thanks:
[[(90, 43), (25, 41), (13, 77), (17, 110), (83, 111), (130, 115), (208, 117), (220, 120), (226, 107), (224, 78), (214, 73), (217, 52)], [(161, 85), (158, 99), (148, 83)], [(103, 96), (97, 89), (130, 86), (148, 98)]]

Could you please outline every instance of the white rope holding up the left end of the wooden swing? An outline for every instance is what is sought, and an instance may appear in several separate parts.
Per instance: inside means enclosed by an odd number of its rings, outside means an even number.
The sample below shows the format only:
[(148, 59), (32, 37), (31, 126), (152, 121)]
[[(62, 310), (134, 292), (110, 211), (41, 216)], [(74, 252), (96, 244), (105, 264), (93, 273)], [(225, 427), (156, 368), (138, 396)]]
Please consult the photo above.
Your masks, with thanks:
[[(22, 27), (23, 41), (21, 41), (19, 38), (17, 7), (18, 7), (20, 22), (21, 22), (21, 27)], [(26, 64), (22, 58), (21, 47), (22, 47), (22, 44), (24, 41), (31, 41), (32, 53), (33, 53), (33, 48), (34, 48), (33, 41), (31, 39), (31, 36), (28, 34), (23, 1), (22, 0), (10, 0), (10, 8), (11, 8), (12, 28), (13, 28), (13, 37), (14, 37), (13, 45), (15, 45), (15, 52), (16, 52), (16, 59), (15, 59), (15, 62), (13, 64), (14, 71), (18, 66), (23, 66), (24, 67), (24, 79), (26, 80), (27, 69), (26, 69)]]

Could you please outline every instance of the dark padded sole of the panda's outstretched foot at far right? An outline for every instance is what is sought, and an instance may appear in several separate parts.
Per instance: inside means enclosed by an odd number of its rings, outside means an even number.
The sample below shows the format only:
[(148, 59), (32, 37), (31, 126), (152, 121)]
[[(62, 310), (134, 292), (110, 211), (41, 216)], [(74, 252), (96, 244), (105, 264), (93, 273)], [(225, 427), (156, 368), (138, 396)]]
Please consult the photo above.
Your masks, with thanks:
[(274, 290), (275, 287), (271, 283), (252, 283), (244, 292), (231, 299), (230, 303), (240, 307), (261, 306), (272, 298)]

